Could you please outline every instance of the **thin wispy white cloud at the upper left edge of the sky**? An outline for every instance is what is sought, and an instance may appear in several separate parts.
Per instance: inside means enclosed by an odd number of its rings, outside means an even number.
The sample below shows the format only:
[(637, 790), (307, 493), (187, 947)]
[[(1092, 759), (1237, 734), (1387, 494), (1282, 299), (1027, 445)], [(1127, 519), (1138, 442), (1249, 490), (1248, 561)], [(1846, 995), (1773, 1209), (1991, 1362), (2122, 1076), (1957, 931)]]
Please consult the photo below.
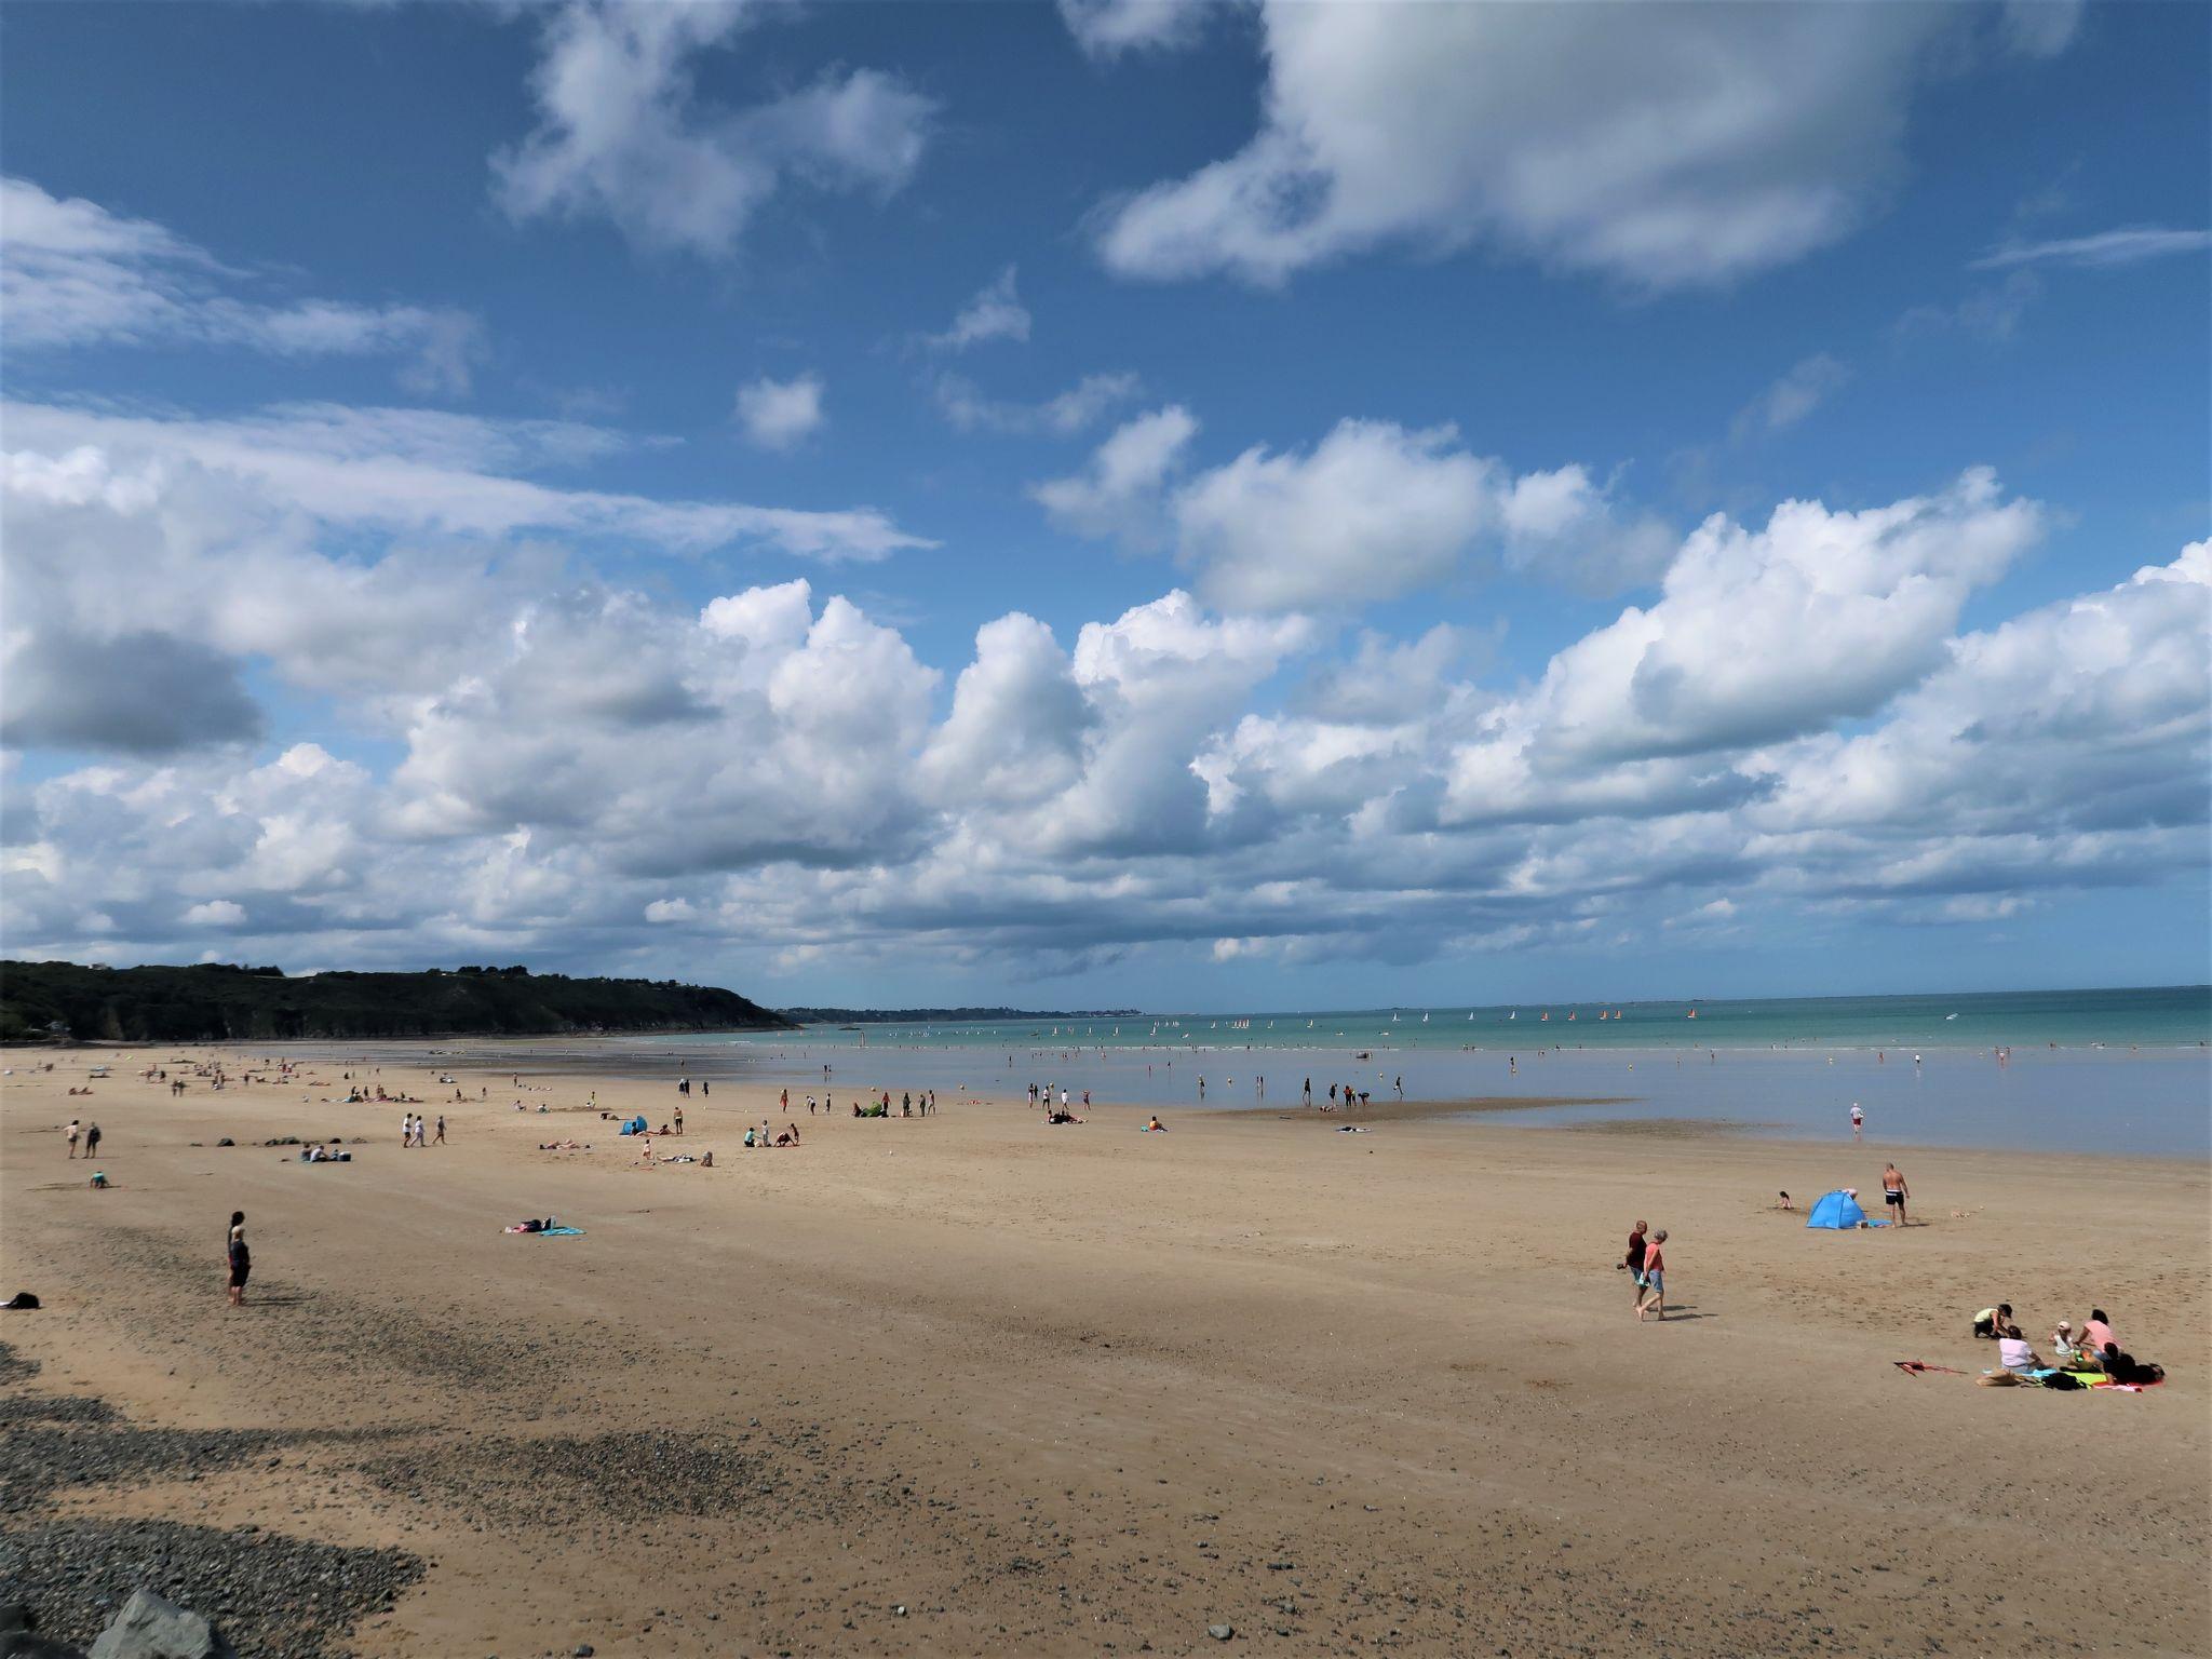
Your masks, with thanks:
[(234, 345), (270, 356), (396, 356), (409, 392), (458, 396), (482, 354), (469, 312), (263, 301), (206, 248), (95, 201), (0, 179), (0, 316), (11, 352), (69, 345)]

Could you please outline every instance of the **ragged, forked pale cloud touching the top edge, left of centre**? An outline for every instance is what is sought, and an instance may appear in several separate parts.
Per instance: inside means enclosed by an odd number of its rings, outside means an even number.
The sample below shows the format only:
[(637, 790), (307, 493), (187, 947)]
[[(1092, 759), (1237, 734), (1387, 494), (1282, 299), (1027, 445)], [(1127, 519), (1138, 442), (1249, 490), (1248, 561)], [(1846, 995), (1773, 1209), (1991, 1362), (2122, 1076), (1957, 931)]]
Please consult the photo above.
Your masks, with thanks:
[(896, 75), (856, 69), (743, 111), (695, 106), (697, 53), (761, 11), (732, 0), (560, 7), (531, 80), (538, 128), (493, 157), (500, 206), (515, 219), (602, 215), (639, 248), (721, 259), (794, 177), (898, 190), (936, 106)]

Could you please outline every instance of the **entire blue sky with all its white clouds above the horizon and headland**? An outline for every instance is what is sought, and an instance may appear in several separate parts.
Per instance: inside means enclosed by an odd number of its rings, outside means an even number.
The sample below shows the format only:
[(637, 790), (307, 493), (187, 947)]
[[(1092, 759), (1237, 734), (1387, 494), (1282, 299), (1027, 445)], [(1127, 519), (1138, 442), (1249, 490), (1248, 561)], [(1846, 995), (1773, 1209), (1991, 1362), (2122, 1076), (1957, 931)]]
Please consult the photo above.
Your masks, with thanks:
[(2205, 978), (2199, 7), (0, 27), (11, 953)]

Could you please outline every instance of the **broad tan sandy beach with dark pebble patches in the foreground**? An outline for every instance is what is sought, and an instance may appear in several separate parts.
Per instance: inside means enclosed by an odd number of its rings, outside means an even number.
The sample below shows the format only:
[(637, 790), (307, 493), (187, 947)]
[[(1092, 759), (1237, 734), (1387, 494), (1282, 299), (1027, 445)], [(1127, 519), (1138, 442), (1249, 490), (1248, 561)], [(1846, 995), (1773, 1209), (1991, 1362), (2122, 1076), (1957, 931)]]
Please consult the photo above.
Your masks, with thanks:
[[(653, 1141), (714, 1168), (646, 1166), (584, 1102), (659, 1126), (661, 1079), (387, 1060), (361, 1079), (447, 1117), (400, 1150), (338, 1060), (137, 1077), (210, 1053), (11, 1055), (0, 1294), (44, 1310), (0, 1316), (0, 1559), (31, 1590), (159, 1520), (385, 1562), (325, 1619), (376, 1659), (2212, 1650), (2203, 1166), (1422, 1110), (1139, 1135), (951, 1093), (801, 1104), (803, 1146), (748, 1152), (785, 1119), (730, 1084)], [(1889, 1155), (1920, 1225), (1772, 1208), (1878, 1194)], [(502, 1232), (544, 1214), (584, 1237)], [(1637, 1219), (1672, 1234), (1666, 1323), (1615, 1265)], [(1995, 1301), (2037, 1347), (2101, 1305), (2170, 1380), (1896, 1369), (1993, 1365)], [(55, 1396), (115, 1420), (24, 1405)]]

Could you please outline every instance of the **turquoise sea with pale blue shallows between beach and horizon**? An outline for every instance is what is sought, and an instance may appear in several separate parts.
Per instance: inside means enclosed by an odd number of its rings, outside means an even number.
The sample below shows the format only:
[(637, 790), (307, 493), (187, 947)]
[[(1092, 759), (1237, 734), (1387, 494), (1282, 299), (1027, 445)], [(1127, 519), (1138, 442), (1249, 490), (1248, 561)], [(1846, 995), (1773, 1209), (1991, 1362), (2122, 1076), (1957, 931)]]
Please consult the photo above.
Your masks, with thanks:
[(1088, 1088), (1102, 1110), (1194, 1106), (1206, 1077), (1206, 1106), (1281, 1108), (1312, 1077), (1316, 1097), (1336, 1082), (1376, 1099), (1402, 1088), (1431, 1102), (1608, 1102), (1486, 1121), (1690, 1117), (1849, 1139), (1858, 1102), (1882, 1141), (2212, 1155), (2212, 987), (810, 1026), (635, 1044), (653, 1071), (781, 1082), (794, 1099), (827, 1091), (841, 1106), (872, 1088), (956, 1097), (1031, 1082), (1077, 1099)]

